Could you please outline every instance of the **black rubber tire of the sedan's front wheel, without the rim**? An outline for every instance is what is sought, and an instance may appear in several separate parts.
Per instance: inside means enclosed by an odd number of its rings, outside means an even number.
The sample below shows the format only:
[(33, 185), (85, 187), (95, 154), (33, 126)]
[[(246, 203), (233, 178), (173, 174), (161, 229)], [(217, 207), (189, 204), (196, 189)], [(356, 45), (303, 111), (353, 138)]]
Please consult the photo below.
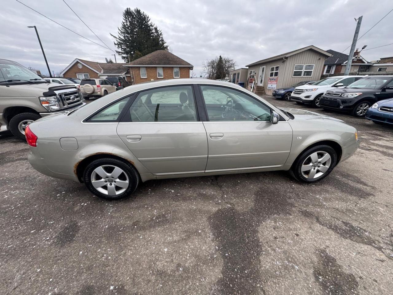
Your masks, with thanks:
[[(303, 162), (305, 162), (305, 160), (311, 154), (318, 152), (318, 151), (323, 151), (325, 153), (328, 153), (331, 157), (331, 163), (330, 163), (329, 169), (325, 173), (323, 173), (323, 175), (316, 177), (316, 178), (309, 179), (303, 175), (303, 173), (301, 171), (301, 167), (302, 167)], [(301, 153), (299, 155), (299, 157), (295, 160), (295, 162), (292, 164), (292, 167), (289, 170), (289, 173), (294, 179), (296, 179), (299, 182), (315, 183), (315, 182), (320, 181), (321, 179), (324, 179), (325, 177), (327, 177), (327, 175), (329, 175), (331, 173), (331, 171), (336, 166), (336, 164), (337, 164), (336, 151), (334, 151), (334, 149), (331, 146), (327, 146), (327, 145), (323, 144), (320, 146), (311, 147), (311, 148), (303, 151), (303, 153)], [(312, 169), (315, 169), (315, 168), (312, 168)]]

